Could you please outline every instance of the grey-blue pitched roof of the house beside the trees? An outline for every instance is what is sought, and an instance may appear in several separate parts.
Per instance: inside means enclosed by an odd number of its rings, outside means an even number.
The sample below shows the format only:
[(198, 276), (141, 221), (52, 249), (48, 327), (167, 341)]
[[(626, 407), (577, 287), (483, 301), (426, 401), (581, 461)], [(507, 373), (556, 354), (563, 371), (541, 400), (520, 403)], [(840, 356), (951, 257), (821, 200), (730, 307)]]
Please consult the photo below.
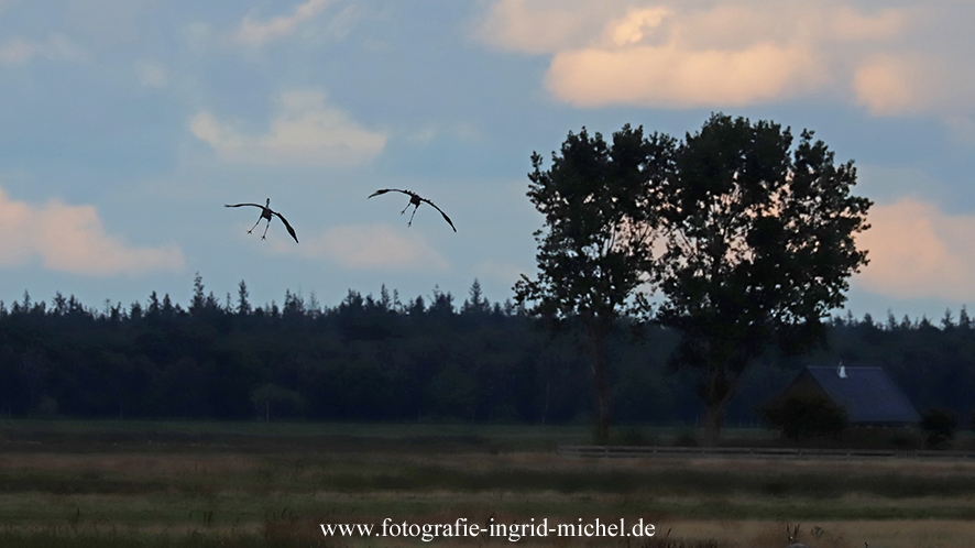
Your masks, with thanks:
[(881, 368), (808, 366), (807, 371), (833, 401), (846, 409), (851, 423), (919, 423), (920, 415)]

